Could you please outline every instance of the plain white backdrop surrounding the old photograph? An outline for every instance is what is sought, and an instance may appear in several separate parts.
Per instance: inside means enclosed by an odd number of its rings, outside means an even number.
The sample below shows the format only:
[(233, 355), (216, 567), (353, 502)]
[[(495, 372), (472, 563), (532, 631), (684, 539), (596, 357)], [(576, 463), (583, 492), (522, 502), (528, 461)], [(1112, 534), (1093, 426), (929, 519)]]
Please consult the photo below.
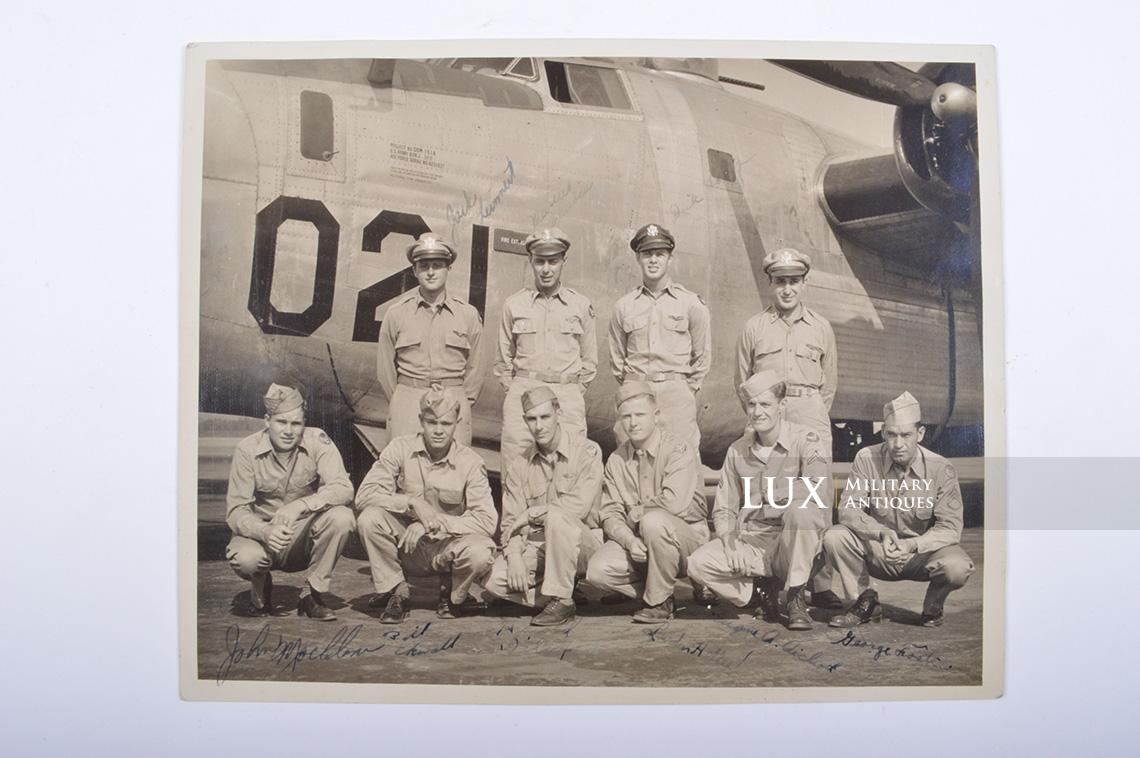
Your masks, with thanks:
[[(38, 7), (36, 7), (38, 6)], [(857, 9), (856, 9), (857, 7)], [(679, 708), (186, 703), (176, 383), (184, 46), (701, 38), (997, 48), (1010, 456), (1140, 455), (1140, 11), (997, 3), (196, 0), (0, 21), (3, 752), (1026, 755), (1135, 750), (1137, 532), (1008, 540), (997, 701)], [(1064, 465), (1064, 464), (1060, 464)], [(1132, 482), (1021, 482), (1086, 529)]]

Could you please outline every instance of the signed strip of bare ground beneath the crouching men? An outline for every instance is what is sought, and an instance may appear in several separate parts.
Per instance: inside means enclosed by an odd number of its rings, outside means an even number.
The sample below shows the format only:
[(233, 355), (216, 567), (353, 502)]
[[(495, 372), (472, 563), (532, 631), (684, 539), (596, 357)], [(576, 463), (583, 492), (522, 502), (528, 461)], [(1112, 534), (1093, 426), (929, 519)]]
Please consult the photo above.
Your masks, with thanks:
[[(217, 512), (206, 495), (199, 512)], [(207, 503), (209, 502), (209, 503)], [(219, 528), (220, 527), (220, 528)], [(977, 570), (950, 596), (945, 623), (919, 625), (926, 585), (876, 582), (881, 623), (828, 627), (838, 611), (813, 609), (811, 631), (789, 631), (720, 602), (695, 606), (678, 581), (675, 618), (638, 625), (640, 603), (588, 602), (562, 627), (529, 626), (534, 611), (491, 603), (484, 614), (437, 617), (435, 578), (413, 578), (413, 606), (401, 625), (381, 625), (368, 609), (372, 582), (359, 546), (333, 578), (332, 622), (296, 614), (304, 573), (274, 572), (280, 616), (250, 616), (249, 582), (223, 557), (228, 530), (199, 521), (198, 676), (233, 679), (589, 686), (911, 686), (982, 683), (983, 529), (962, 546)]]

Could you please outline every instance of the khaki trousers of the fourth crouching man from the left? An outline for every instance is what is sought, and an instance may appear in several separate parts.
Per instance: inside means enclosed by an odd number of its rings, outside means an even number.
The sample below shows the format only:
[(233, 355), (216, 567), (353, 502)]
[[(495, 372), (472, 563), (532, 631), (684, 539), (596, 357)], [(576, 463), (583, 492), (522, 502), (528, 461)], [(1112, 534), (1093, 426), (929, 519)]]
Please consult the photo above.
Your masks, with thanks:
[(685, 562), (709, 540), (705, 522), (686, 523), (667, 511), (646, 511), (637, 524), (649, 560), (635, 562), (629, 551), (609, 541), (594, 553), (586, 569), (586, 581), (626, 597), (642, 596), (646, 605), (658, 605), (673, 597), (677, 577), (685, 576)]

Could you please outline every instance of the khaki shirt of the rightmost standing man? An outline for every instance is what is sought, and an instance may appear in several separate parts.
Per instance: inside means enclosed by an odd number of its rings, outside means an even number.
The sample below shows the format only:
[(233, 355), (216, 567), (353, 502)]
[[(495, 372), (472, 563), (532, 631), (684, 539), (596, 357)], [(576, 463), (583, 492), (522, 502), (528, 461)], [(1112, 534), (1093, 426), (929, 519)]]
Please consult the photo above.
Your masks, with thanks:
[(831, 409), (839, 380), (836, 333), (828, 319), (811, 308), (798, 307), (789, 319), (768, 307), (744, 324), (736, 347), (736, 386), (762, 370), (772, 370), (791, 386), (820, 391), (823, 407)]

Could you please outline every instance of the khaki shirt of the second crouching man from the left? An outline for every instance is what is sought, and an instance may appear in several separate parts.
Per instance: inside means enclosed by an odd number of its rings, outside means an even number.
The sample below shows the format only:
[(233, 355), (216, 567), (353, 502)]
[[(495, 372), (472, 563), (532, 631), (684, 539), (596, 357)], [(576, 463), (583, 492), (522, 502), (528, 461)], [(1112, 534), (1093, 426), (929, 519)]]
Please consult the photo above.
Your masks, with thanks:
[(360, 482), (356, 507), (376, 506), (410, 514), (408, 503), (423, 498), (438, 507), (450, 535), (495, 533), (498, 514), (479, 454), (456, 440), (439, 460), (432, 460), (423, 434), (397, 437), (376, 458)]

